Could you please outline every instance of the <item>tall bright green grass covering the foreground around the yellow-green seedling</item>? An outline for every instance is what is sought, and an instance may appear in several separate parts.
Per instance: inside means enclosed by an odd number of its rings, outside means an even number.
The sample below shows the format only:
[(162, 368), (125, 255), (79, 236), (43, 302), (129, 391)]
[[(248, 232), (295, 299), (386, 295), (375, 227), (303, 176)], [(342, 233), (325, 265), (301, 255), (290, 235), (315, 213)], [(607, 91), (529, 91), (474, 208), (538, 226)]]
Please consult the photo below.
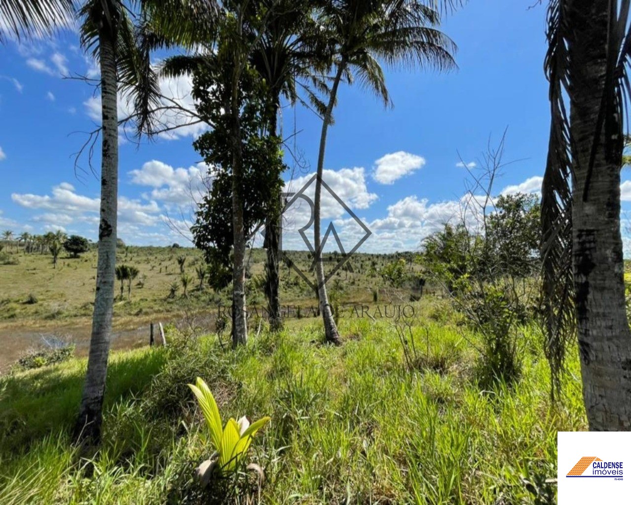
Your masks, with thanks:
[[(526, 328), (519, 381), (481, 390), (476, 336), (437, 318), (413, 328), (423, 359), (412, 367), (394, 327), (368, 319), (342, 320), (338, 348), (299, 320), (236, 352), (172, 337), (166, 350), (117, 353), (91, 460), (68, 438), (84, 361), (4, 377), (0, 503), (555, 503), (556, 432), (586, 429), (577, 359), (552, 405), (540, 336)], [(261, 489), (193, 482), (212, 451), (186, 387), (197, 375), (224, 418), (271, 415), (249, 455)]]

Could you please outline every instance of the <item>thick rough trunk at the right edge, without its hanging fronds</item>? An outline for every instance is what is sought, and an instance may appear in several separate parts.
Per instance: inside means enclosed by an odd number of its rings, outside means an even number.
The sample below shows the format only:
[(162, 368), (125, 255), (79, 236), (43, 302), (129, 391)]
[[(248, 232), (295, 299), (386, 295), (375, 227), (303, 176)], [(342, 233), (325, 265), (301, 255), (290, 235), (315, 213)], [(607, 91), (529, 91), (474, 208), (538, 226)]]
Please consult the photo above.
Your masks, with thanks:
[[(625, 310), (620, 235), (620, 148), (600, 134), (584, 198), (605, 87), (608, 0), (575, 0), (571, 18), (570, 103), (574, 286), (583, 398), (589, 429), (631, 429), (631, 332)], [(622, 118), (612, 119), (613, 121)], [(609, 133), (611, 136), (611, 132)], [(615, 141), (614, 141), (615, 142)], [(606, 148), (606, 146), (609, 146)]]

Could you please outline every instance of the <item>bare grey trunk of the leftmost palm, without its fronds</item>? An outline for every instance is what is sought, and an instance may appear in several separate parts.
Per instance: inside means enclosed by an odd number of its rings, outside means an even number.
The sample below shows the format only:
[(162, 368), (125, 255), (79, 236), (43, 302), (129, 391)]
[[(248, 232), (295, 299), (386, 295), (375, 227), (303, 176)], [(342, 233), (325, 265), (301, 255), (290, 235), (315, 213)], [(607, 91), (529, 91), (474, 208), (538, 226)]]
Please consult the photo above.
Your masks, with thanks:
[(92, 318), (88, 371), (81, 410), (75, 428), (76, 438), (87, 443), (100, 442), (103, 395), (107, 377), (107, 358), (112, 334), (112, 310), (116, 264), (116, 225), (118, 190), (118, 119), (115, 40), (107, 27), (99, 32), (102, 160), (101, 207), (98, 227), (97, 288)]

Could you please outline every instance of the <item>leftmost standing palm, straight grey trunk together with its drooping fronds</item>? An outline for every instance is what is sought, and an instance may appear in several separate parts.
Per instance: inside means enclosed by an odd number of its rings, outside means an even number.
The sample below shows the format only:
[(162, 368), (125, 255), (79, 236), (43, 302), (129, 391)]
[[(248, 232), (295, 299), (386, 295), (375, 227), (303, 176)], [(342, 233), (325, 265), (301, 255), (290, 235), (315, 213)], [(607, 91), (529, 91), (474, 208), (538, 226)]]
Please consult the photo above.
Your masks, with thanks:
[[(179, 0), (144, 0), (140, 18), (153, 13), (156, 23), (165, 26), (182, 21), (173, 9), (170, 15), (161, 12), (182, 4)], [(163, 9), (162, 11), (160, 9)], [(101, 204), (98, 228), (97, 288), (95, 291), (90, 352), (81, 408), (75, 426), (80, 441), (98, 443), (102, 421), (103, 395), (107, 376), (112, 310), (114, 302), (117, 245), (118, 201), (118, 93), (129, 96), (136, 110), (148, 110), (157, 103), (158, 88), (150, 70), (149, 53), (130, 18), (131, 11), (123, 0), (90, 0), (80, 9), (81, 44), (98, 60), (101, 89)], [(183, 23), (183, 21), (182, 21)], [(138, 128), (146, 127), (148, 118), (137, 119)]]

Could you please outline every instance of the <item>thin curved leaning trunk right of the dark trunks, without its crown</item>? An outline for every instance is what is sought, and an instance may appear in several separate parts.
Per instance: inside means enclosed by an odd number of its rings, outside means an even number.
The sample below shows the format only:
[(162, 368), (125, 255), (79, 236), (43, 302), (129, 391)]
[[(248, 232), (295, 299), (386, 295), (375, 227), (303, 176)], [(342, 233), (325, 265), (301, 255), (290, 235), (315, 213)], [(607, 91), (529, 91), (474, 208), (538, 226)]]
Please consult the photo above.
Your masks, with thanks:
[(346, 66), (346, 60), (342, 58), (339, 62), (338, 73), (333, 81), (331, 88), (331, 96), (326, 107), (324, 120), (322, 120), (322, 133), (320, 136), (320, 151), (317, 158), (317, 172), (315, 178), (315, 201), (314, 201), (314, 242), (315, 242), (315, 279), (317, 280), (318, 298), (322, 320), (324, 322), (324, 335), (327, 342), (339, 345), (338, 327), (333, 318), (333, 310), (329, 304), (329, 297), (326, 293), (324, 284), (324, 264), (322, 264), (322, 240), (320, 238), (320, 208), (322, 197), (322, 172), (324, 171), (324, 153), (326, 151), (326, 134), (331, 124), (331, 116), (333, 115), (333, 107), (335, 105), (336, 96), (338, 95), (339, 81), (341, 81), (342, 73)]

